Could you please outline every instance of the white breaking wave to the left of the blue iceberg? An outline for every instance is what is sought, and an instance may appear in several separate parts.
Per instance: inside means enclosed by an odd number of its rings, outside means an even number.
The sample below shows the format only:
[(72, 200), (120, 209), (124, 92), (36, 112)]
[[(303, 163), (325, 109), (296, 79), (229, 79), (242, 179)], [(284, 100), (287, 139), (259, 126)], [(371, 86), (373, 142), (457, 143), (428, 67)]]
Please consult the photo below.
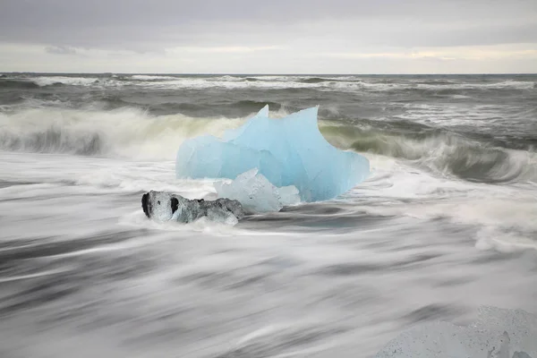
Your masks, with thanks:
[(149, 115), (141, 109), (113, 111), (39, 108), (0, 114), (0, 149), (118, 158), (175, 158), (192, 136), (219, 135), (243, 119)]

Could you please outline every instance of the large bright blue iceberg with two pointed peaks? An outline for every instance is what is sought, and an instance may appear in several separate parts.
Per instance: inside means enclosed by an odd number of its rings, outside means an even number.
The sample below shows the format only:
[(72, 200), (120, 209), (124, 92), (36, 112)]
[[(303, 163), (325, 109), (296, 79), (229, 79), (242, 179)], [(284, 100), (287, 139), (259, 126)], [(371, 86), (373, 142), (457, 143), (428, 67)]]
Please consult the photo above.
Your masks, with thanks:
[(370, 174), (367, 158), (336, 149), (317, 126), (318, 107), (284, 118), (268, 118), (268, 106), (222, 139), (184, 141), (177, 152), (177, 177), (234, 179), (253, 168), (277, 187), (294, 185), (303, 201), (328, 200)]

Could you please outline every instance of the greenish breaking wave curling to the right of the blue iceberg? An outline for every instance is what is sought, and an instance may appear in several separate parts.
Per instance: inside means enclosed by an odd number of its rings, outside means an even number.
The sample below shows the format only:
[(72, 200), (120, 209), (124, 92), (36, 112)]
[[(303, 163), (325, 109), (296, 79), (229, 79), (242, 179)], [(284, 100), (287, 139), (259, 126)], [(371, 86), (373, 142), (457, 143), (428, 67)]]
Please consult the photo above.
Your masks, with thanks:
[(393, 134), (348, 126), (324, 126), (321, 132), (340, 148), (405, 159), (441, 175), (480, 183), (537, 182), (533, 151), (495, 147), (456, 133)]

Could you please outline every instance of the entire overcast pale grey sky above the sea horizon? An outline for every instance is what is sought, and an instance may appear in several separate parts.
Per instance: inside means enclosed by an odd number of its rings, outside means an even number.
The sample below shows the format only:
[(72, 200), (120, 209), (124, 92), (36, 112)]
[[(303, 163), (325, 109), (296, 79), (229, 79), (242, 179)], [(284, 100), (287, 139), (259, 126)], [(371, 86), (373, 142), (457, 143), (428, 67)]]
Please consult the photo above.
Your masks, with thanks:
[(0, 72), (537, 72), (536, 0), (0, 0)]

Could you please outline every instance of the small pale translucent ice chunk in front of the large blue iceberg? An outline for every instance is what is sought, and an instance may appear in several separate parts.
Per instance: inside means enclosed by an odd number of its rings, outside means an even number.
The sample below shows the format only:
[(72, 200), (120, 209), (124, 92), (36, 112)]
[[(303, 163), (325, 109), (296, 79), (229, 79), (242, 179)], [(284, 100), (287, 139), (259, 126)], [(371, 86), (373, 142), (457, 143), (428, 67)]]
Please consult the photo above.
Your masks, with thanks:
[(243, 209), (251, 213), (279, 211), (285, 206), (300, 202), (294, 185), (277, 188), (253, 168), (236, 177), (234, 181), (215, 183), (218, 197), (238, 200)]

